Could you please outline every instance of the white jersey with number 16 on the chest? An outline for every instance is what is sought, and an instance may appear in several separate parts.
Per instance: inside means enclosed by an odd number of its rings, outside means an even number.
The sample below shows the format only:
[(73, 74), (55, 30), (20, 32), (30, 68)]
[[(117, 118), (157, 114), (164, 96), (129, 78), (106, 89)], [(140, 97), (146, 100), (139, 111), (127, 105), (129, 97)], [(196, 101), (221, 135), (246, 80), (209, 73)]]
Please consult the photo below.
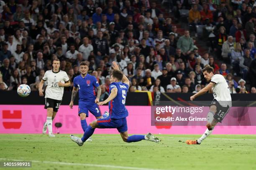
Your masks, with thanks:
[(65, 83), (69, 81), (67, 73), (61, 70), (59, 72), (53, 72), (53, 70), (48, 70), (45, 72), (43, 80), (47, 81), (45, 98), (62, 100), (64, 87), (59, 87), (58, 82)]

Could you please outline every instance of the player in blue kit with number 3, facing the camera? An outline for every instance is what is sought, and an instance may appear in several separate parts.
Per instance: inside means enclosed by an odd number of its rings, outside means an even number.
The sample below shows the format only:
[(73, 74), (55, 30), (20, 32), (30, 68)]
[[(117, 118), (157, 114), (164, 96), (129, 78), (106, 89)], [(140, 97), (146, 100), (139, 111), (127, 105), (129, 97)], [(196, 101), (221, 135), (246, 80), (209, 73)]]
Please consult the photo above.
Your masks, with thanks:
[[(87, 61), (80, 63), (81, 75), (74, 78), (74, 87), (72, 91), (71, 101), (69, 104), (70, 108), (73, 108), (74, 99), (79, 90), (79, 108), (78, 115), (80, 116), (81, 126), (83, 131), (87, 129), (86, 117), (88, 117), (88, 110), (96, 117), (96, 119), (102, 118), (100, 108), (96, 104), (99, 102), (101, 88), (96, 78), (92, 75), (87, 74), (89, 70), (89, 64)], [(95, 96), (95, 87), (97, 88), (97, 97)], [(108, 113), (105, 113), (103, 117), (108, 117)], [(92, 141), (90, 138), (87, 141)]]

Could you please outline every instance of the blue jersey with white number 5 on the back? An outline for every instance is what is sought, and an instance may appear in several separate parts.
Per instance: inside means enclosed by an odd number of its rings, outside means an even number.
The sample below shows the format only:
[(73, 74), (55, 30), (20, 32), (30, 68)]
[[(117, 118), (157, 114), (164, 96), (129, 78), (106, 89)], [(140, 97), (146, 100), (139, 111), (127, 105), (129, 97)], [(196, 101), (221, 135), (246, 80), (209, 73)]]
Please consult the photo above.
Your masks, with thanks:
[(118, 90), (117, 95), (108, 103), (110, 117), (113, 119), (122, 119), (128, 116), (128, 111), (125, 108), (125, 98), (129, 86), (123, 82), (112, 82), (110, 84), (109, 94), (115, 87)]

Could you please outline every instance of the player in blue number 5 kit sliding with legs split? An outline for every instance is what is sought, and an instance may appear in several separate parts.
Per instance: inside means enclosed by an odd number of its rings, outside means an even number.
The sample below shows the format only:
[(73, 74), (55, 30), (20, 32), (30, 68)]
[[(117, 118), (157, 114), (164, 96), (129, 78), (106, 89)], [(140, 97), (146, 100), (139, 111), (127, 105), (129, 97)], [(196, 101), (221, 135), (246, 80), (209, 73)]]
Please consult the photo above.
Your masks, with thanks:
[(131, 143), (141, 140), (149, 140), (159, 143), (160, 139), (154, 137), (151, 135), (151, 133), (148, 133), (147, 135), (128, 135), (126, 122), (128, 111), (125, 108), (125, 98), (130, 82), (123, 72), (119, 70), (116, 62), (113, 62), (113, 67), (114, 70), (110, 76), (110, 95), (103, 102), (98, 102), (98, 105), (103, 105), (109, 102), (110, 115), (108, 117), (92, 121), (85, 130), (82, 138), (70, 135), (71, 140), (77, 143), (77, 145), (82, 146), (84, 142), (94, 133), (95, 128), (116, 128), (124, 142)]

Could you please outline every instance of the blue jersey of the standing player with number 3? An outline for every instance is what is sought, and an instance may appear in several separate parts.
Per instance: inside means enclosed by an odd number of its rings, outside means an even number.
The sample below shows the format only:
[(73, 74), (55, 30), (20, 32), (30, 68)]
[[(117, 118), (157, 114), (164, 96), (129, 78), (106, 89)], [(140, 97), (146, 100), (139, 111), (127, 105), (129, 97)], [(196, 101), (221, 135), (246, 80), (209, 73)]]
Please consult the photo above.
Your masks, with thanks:
[(95, 87), (99, 86), (96, 77), (87, 74), (84, 78), (81, 75), (74, 77), (74, 87), (79, 89), (79, 102), (95, 102)]

